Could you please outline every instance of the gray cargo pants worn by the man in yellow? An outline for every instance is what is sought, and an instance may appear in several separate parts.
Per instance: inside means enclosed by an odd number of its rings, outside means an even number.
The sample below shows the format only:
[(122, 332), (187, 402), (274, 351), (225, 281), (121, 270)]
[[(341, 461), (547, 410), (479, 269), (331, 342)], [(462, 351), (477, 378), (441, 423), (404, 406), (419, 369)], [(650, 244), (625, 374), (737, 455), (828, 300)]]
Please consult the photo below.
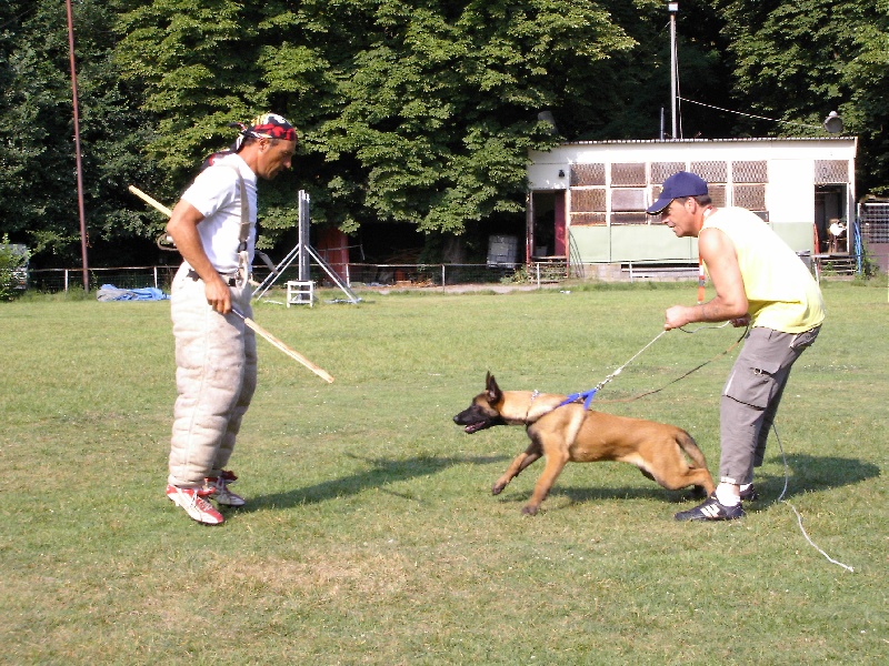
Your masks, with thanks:
[(747, 484), (766, 455), (766, 440), (778, 412), (790, 369), (815, 342), (820, 326), (805, 333), (755, 327), (735, 362), (719, 410), (721, 483)]

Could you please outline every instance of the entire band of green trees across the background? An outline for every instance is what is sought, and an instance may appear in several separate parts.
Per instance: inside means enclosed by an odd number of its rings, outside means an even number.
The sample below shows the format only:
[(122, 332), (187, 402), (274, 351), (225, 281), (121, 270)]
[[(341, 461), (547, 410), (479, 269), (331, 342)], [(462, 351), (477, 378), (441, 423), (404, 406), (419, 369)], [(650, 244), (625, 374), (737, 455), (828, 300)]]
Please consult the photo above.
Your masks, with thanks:
[[(260, 245), (312, 219), (468, 233), (520, 215), (526, 158), (560, 140), (653, 139), (669, 104), (661, 0), (78, 0), (72, 3), (87, 243), (101, 265), (161, 258), (163, 220), (231, 122), (300, 129), (291, 174), (261, 184)], [(689, 99), (860, 139), (858, 191), (887, 193), (889, 2), (688, 0)], [(80, 260), (67, 16), (0, 3), (0, 231), (41, 268)], [(538, 120), (552, 112), (558, 133)], [(685, 137), (811, 133), (682, 105)], [(819, 132), (820, 133), (820, 132)], [(289, 234), (289, 235), (288, 235)], [(289, 243), (288, 243), (289, 244)]]

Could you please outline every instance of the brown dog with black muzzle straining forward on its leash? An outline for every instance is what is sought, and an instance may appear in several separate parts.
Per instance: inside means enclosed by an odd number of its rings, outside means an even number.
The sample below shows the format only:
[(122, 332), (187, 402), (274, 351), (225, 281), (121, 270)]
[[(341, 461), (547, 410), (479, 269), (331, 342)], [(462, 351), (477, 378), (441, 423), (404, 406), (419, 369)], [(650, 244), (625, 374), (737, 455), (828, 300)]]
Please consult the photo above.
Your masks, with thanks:
[[(491, 488), (499, 495), (522, 470), (546, 456), (547, 466), (522, 513), (537, 513), (569, 461), (630, 463), (669, 491), (695, 486), (707, 495), (713, 492), (707, 461), (686, 431), (653, 421), (592, 412), (577, 403), (559, 406), (565, 400), (565, 395), (555, 393), (500, 391), (493, 375), (488, 373), (485, 392), (453, 417), (469, 434), (495, 425), (526, 426), (530, 446), (512, 461)], [(683, 453), (692, 464), (689, 465)]]

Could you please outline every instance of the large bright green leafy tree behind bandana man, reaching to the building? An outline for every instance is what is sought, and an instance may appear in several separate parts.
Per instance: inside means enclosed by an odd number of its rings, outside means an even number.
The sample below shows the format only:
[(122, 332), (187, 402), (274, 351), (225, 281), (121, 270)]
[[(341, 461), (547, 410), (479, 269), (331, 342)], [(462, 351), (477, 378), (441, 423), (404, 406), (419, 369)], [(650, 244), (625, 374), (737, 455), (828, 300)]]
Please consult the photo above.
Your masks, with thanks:
[[(121, 24), (124, 73), (147, 87), (151, 150), (174, 180), (228, 122), (274, 109), (303, 130), (313, 218), (344, 231), (378, 220), (460, 233), (518, 212), (528, 149), (556, 141), (538, 113), (633, 43), (576, 0), (164, 0), (133, 3)], [(292, 225), (270, 210), (292, 198), (269, 189), (264, 212)]]

